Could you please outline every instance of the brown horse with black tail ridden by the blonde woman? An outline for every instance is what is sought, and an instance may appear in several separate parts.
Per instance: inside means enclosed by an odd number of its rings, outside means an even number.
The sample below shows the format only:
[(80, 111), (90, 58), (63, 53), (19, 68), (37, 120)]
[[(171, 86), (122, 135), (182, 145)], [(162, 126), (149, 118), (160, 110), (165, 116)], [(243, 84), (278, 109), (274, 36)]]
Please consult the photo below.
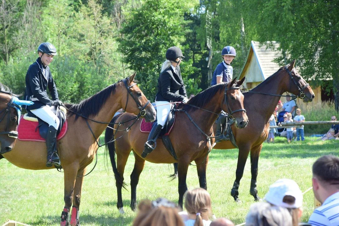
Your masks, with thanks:
[[(155, 150), (148, 154), (146, 158), (141, 158), (143, 151), (143, 144), (147, 141), (148, 134), (140, 132), (139, 129), (129, 131), (128, 136), (123, 136), (121, 139), (108, 145), (109, 156), (113, 172), (116, 179), (116, 186), (118, 192), (117, 207), (119, 212), (123, 213), (123, 203), (121, 196), (121, 188), (125, 188), (123, 182), (125, 165), (131, 150), (134, 153), (135, 164), (131, 174), (131, 208), (135, 210), (136, 206), (136, 188), (139, 182), (139, 176), (144, 168), (145, 161), (153, 163), (174, 163), (178, 162), (178, 177), (179, 177), (179, 205), (182, 206), (183, 194), (187, 190), (186, 175), (188, 166), (192, 161), (197, 164), (198, 177), (200, 187), (207, 189), (206, 184), (206, 167), (208, 163), (208, 153), (211, 150), (211, 142), (214, 143), (214, 138), (210, 138), (213, 134), (212, 125), (217, 119), (221, 110), (224, 110), (231, 115), (234, 113), (236, 119), (236, 126), (244, 128), (247, 124), (246, 111), (243, 109), (243, 95), (239, 86), (244, 79), (236, 82), (234, 79), (230, 83), (223, 83), (212, 86), (200, 94), (193, 97), (187, 104), (180, 104), (178, 109), (185, 112), (176, 113), (176, 123), (172, 128), (169, 138), (172, 141), (173, 148), (177, 155), (177, 161), (166, 150), (160, 139), (157, 141)], [(227, 94), (226, 94), (227, 93)], [(198, 109), (202, 108), (202, 109)], [(237, 109), (232, 111), (232, 109)], [(191, 119), (188, 117), (191, 117)], [(112, 121), (116, 123), (127, 121), (135, 117), (133, 114), (124, 113), (117, 119)], [(193, 121), (193, 123), (192, 123)], [(141, 122), (136, 123), (136, 128), (140, 126)], [(196, 125), (194, 125), (196, 123)], [(120, 125), (119, 129), (127, 128), (128, 124)], [(115, 129), (118, 125), (114, 126)], [(201, 129), (201, 130), (200, 130)], [(122, 136), (122, 131), (116, 131), (114, 138)], [(112, 131), (106, 129), (105, 141), (112, 139)], [(211, 142), (208, 140), (211, 139)], [(117, 160), (115, 159), (115, 153)], [(117, 161), (117, 164), (116, 164)]]

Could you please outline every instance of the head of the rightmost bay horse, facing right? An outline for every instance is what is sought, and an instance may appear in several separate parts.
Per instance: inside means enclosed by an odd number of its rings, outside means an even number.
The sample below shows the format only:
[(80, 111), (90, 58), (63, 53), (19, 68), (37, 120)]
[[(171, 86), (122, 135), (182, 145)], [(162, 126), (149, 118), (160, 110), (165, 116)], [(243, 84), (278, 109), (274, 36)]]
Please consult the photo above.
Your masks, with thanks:
[(311, 102), (314, 99), (314, 93), (310, 84), (308, 84), (298, 73), (295, 66), (295, 59), (284, 66), (284, 72), (289, 75), (290, 84), (287, 86), (287, 91), (293, 93), (303, 100), (303, 102)]

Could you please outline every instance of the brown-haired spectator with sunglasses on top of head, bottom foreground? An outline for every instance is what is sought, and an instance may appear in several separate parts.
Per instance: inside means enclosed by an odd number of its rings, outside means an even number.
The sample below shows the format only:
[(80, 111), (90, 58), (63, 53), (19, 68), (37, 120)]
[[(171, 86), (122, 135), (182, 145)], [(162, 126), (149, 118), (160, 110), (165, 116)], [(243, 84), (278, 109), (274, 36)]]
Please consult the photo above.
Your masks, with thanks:
[(143, 200), (138, 206), (133, 226), (184, 226), (175, 203), (159, 198), (153, 202)]

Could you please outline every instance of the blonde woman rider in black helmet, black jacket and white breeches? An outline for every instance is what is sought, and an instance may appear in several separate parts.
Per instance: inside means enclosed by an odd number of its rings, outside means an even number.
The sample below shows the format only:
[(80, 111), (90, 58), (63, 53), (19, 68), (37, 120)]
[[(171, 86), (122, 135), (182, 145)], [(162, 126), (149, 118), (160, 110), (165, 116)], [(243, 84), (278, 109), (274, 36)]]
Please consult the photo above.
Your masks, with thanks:
[(180, 63), (182, 61), (181, 49), (172, 46), (167, 49), (166, 60), (161, 66), (160, 76), (158, 78), (158, 93), (155, 97), (157, 105), (157, 122), (149, 133), (145, 149), (141, 157), (145, 158), (156, 147), (156, 140), (165, 125), (172, 102), (187, 103), (188, 98), (184, 82), (181, 78)]

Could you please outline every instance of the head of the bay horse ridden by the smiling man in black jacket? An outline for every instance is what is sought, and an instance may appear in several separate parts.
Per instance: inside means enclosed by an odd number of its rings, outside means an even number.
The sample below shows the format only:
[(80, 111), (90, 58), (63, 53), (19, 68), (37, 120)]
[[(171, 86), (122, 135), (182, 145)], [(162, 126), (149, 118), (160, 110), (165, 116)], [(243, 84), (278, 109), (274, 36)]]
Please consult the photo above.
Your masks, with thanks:
[[(123, 79), (125, 88), (123, 88), (123, 92), (121, 99), (121, 106), (124, 106), (124, 111), (133, 112), (133, 114), (145, 118), (146, 122), (153, 122), (156, 119), (156, 110), (150, 101), (145, 97), (137, 83), (135, 83), (134, 77), (136, 72)], [(129, 98), (131, 96), (132, 98)], [(126, 97), (126, 99), (124, 99)]]

